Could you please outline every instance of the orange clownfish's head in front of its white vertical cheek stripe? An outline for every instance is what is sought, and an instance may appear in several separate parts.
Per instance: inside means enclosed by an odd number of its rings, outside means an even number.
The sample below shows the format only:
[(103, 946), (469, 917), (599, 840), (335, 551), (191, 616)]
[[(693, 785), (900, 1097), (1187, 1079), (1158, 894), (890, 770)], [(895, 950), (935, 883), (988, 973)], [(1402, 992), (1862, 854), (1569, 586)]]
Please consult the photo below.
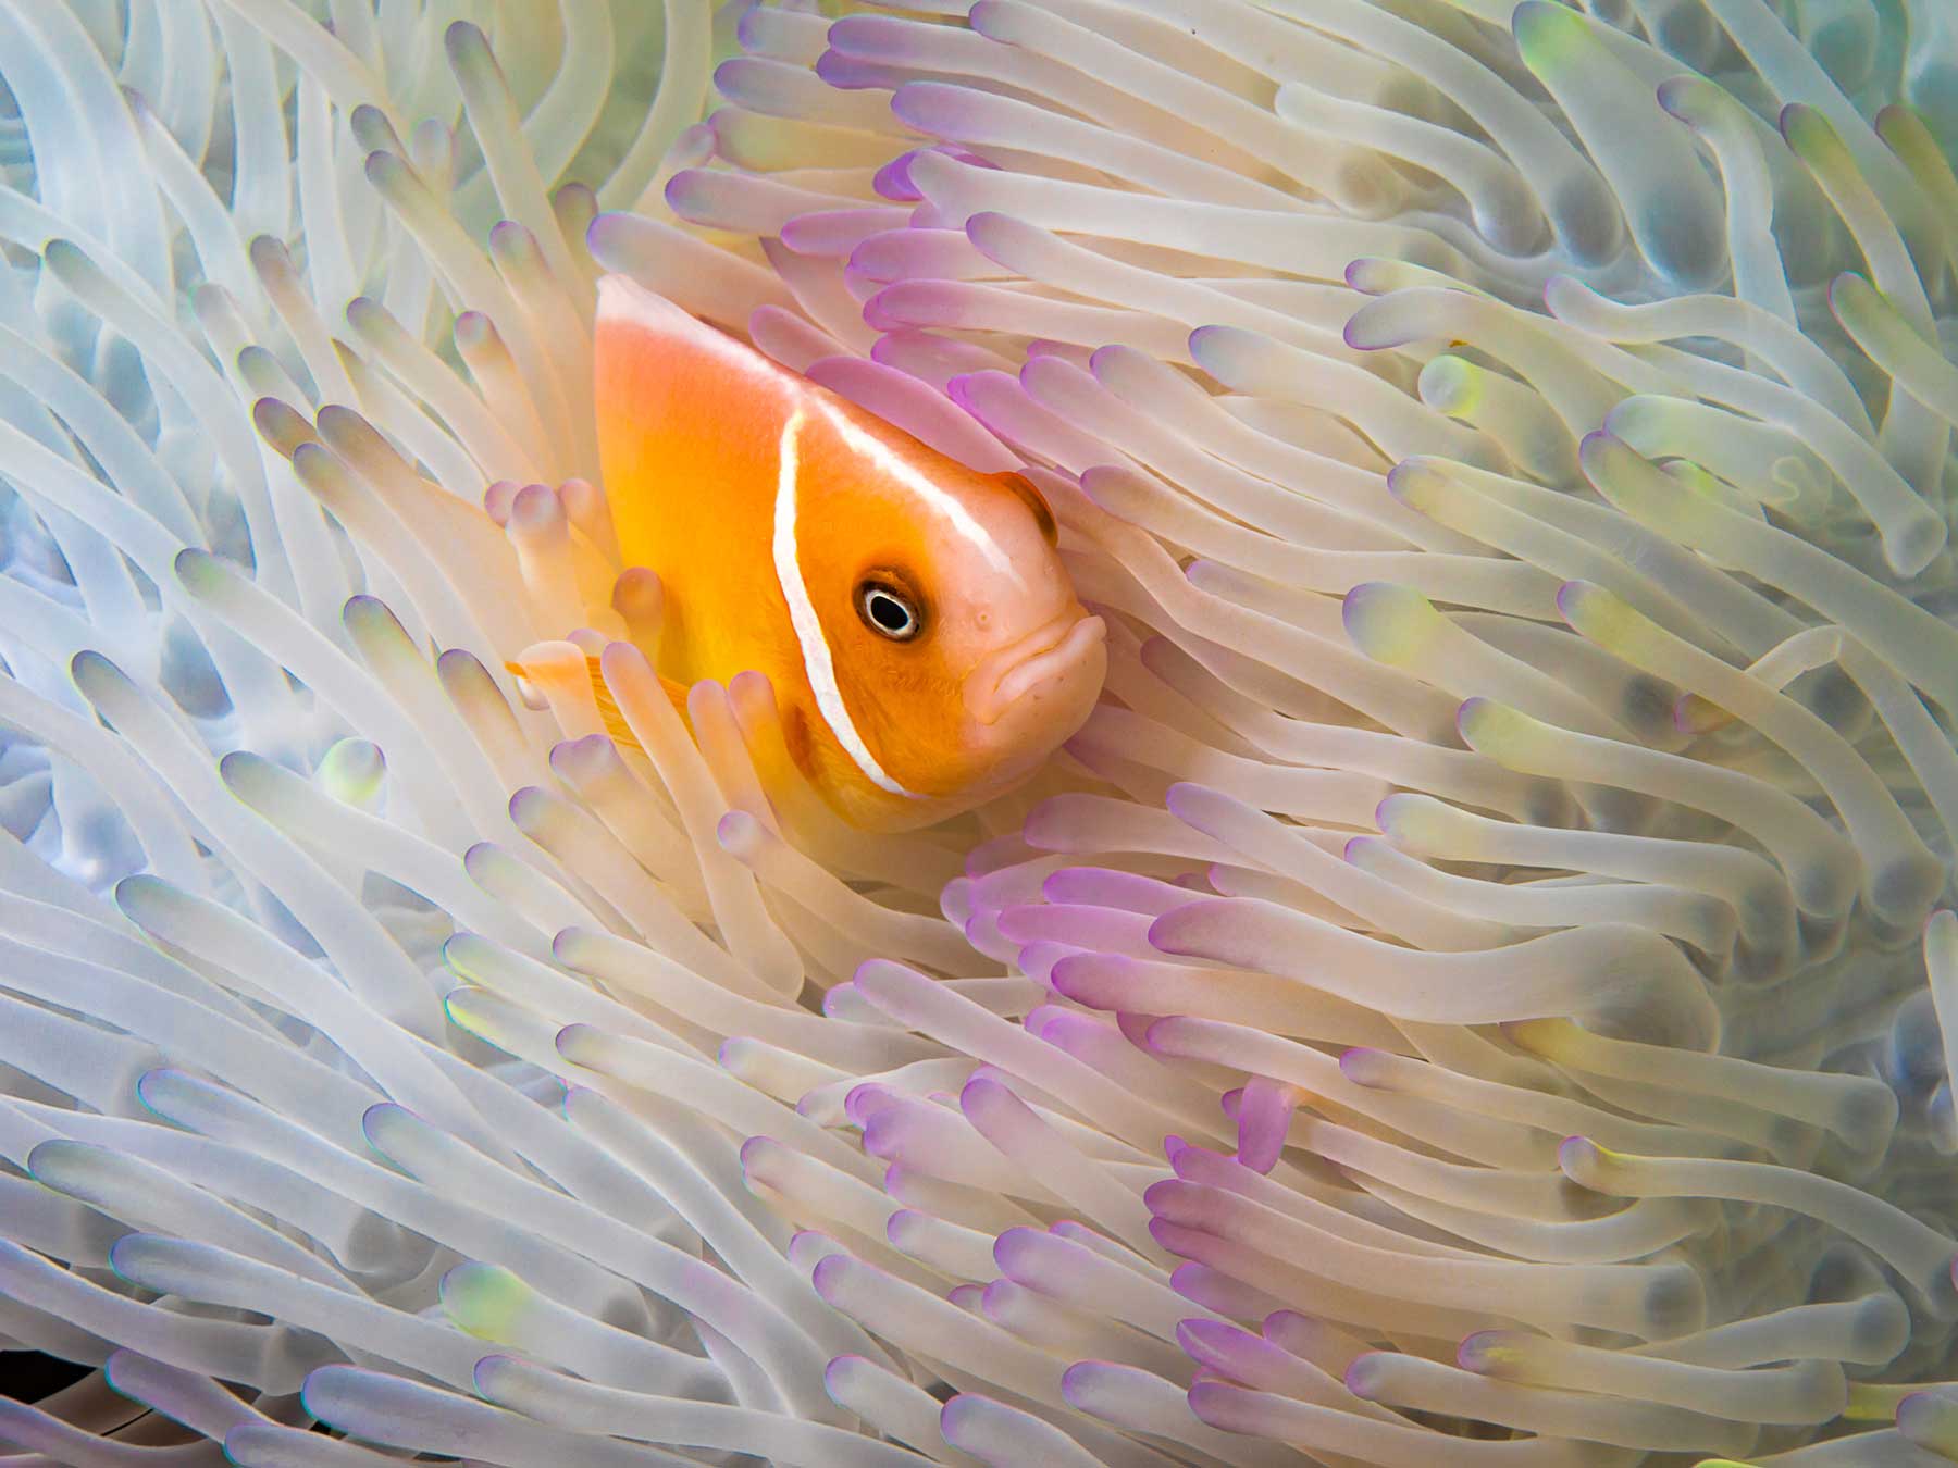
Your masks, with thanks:
[(856, 746), (832, 804), (860, 826), (924, 824), (1040, 769), (1106, 675), (1106, 628), (1040, 491), (840, 401), (805, 419), (797, 472), (799, 572), (830, 654), (815, 671)]

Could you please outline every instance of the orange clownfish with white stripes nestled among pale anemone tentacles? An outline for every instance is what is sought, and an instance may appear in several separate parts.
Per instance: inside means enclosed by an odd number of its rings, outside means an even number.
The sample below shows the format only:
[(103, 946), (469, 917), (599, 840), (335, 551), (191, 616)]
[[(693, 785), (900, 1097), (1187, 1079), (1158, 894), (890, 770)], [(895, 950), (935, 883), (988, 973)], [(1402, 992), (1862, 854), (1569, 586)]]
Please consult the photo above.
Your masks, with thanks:
[(1106, 628), (1026, 478), (948, 458), (627, 276), (599, 282), (593, 388), (621, 558), (664, 589), (642, 650), (681, 712), (701, 679), (766, 673), (789, 757), (863, 830), (983, 804), (1087, 720)]

